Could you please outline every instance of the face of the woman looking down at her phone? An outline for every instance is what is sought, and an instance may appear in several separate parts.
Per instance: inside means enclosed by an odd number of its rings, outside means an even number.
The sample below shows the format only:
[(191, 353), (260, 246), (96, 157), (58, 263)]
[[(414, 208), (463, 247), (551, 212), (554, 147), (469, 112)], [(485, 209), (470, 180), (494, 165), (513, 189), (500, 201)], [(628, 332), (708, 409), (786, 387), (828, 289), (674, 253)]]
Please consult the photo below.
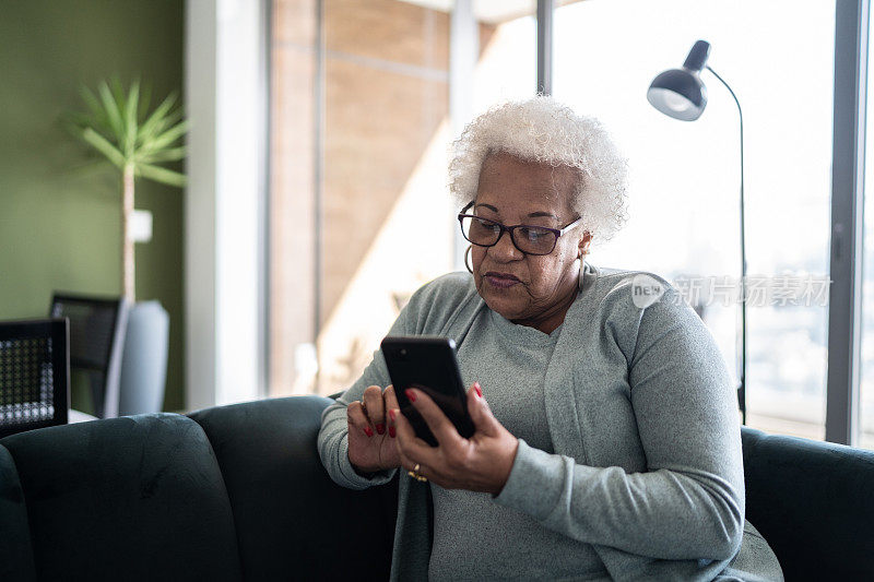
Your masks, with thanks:
[[(476, 203), (469, 210), (505, 226), (562, 228), (578, 216), (570, 207), (576, 174), (515, 157), (489, 154), (480, 173)], [(493, 247), (473, 246), (473, 278), (489, 308), (504, 318), (551, 333), (564, 321), (578, 290), (579, 263), (591, 235), (584, 225), (558, 237), (550, 254), (524, 254), (504, 233)]]

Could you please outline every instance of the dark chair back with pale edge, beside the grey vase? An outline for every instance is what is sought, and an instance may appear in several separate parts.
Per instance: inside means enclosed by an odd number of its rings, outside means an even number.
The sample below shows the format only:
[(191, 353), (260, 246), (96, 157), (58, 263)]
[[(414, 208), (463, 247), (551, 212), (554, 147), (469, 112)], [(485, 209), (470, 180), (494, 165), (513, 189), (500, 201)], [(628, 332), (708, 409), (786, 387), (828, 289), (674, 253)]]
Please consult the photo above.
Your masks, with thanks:
[(70, 319), (70, 367), (87, 376), (97, 418), (118, 416), (128, 304), (123, 297), (56, 293), (51, 298), (49, 314)]

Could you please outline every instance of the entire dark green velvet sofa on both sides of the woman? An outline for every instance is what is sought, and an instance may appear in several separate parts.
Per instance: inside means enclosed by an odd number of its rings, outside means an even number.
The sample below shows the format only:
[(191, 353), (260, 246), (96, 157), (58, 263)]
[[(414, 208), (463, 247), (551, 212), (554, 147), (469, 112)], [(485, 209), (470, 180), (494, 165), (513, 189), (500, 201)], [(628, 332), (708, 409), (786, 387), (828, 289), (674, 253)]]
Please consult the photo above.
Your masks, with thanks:
[[(388, 579), (397, 479), (331, 482), (316, 449), (331, 402), (0, 439), (0, 580)], [(874, 577), (874, 453), (747, 428), (743, 441), (746, 515), (787, 580)]]

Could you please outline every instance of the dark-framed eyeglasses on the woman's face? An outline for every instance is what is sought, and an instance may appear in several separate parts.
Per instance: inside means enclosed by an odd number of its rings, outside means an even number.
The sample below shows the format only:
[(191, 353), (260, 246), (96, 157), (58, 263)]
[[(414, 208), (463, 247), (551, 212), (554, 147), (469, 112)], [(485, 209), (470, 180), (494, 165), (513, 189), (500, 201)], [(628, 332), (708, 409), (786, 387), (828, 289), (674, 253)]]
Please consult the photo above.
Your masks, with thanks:
[(558, 237), (579, 225), (580, 221), (582, 221), (582, 217), (579, 217), (562, 229), (528, 224), (504, 226), (496, 221), (489, 221), (473, 214), (464, 214), (471, 206), (473, 206), (473, 202), (461, 209), (461, 213), (458, 215), (458, 221), (461, 223), (461, 234), (465, 239), (477, 247), (494, 247), (506, 230), (510, 234), (513, 247), (525, 254), (550, 254), (555, 249)]

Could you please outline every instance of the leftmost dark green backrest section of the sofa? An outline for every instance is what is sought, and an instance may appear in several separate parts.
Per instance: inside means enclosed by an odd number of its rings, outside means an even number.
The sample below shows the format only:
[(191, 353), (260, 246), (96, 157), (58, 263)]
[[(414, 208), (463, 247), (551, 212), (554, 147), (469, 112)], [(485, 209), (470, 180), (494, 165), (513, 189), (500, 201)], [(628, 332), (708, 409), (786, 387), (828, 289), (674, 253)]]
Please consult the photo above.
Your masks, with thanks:
[(210, 441), (175, 414), (0, 439), (0, 580), (240, 580)]

